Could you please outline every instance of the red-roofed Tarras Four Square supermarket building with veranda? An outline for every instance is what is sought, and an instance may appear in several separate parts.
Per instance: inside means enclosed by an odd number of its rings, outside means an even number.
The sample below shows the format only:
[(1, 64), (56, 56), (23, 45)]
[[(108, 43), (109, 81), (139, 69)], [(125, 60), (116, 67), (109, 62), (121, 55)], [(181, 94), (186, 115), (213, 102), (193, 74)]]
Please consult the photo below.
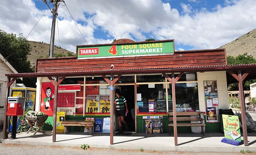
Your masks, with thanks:
[[(38, 59), (35, 73), (7, 76), (38, 77), (35, 110), (50, 116), (44, 129), (54, 129), (56, 111), (65, 112), (66, 120), (114, 119), (111, 97), (119, 89), (128, 103), (129, 132), (145, 133), (150, 117), (161, 119), (156, 133), (168, 133), (166, 112), (174, 109), (204, 112), (204, 132), (220, 132), (219, 109), (229, 108), (227, 71), (234, 76), (247, 67), (227, 65), (225, 49), (175, 51), (174, 40), (121, 39), (77, 46), (77, 57)], [(113, 130), (118, 129), (114, 119)], [(178, 127), (178, 133), (191, 131), (201, 128)]]

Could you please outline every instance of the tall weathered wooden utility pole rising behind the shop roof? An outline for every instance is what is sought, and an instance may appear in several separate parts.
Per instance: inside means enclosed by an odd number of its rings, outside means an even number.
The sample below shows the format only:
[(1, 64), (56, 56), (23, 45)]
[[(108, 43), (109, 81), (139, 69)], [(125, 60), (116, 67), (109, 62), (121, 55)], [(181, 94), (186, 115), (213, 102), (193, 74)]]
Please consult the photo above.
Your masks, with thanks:
[(54, 55), (55, 22), (56, 22), (56, 16), (57, 16), (58, 2), (60, 2), (60, 0), (55, 0), (55, 2), (53, 2), (54, 9), (52, 10), (53, 16), (52, 16), (52, 34), (51, 34), (50, 54), (49, 54), (50, 58), (52, 58)]

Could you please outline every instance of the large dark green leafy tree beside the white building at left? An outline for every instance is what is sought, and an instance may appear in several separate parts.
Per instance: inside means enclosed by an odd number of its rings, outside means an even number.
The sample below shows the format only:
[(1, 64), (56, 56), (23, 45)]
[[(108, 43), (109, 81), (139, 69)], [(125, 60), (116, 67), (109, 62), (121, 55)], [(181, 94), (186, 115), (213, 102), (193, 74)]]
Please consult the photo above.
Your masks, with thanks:
[[(0, 29), (0, 53), (19, 73), (34, 72), (28, 60), (31, 47), (28, 40), (19, 34), (7, 34)], [(35, 87), (35, 78), (17, 79), (16, 83), (24, 83), (27, 87)]]

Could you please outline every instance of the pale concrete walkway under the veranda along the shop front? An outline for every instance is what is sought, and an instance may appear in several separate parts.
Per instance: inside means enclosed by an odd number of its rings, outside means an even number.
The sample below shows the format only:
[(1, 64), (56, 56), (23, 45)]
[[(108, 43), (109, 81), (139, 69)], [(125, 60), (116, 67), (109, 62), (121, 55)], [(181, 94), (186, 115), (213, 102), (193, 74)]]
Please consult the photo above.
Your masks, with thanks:
[[(240, 152), (249, 150), (256, 152), (256, 133), (248, 133), (249, 146), (230, 145), (222, 143), (223, 133), (178, 133), (178, 146), (174, 145), (173, 136), (169, 134), (145, 134), (132, 133), (130, 136), (114, 136), (114, 144), (110, 145), (109, 134), (93, 133), (69, 133), (56, 134), (56, 141), (52, 142), (52, 133), (36, 133), (33, 131), (26, 134), (16, 134), (16, 139), (5, 139), (3, 143), (22, 145), (45, 145), (45, 146), (73, 146), (80, 147), (81, 144), (88, 144), (94, 148), (117, 148), (156, 151), (180, 151), (180, 152)], [(9, 135), (11, 137), (11, 135)], [(2, 138), (2, 136), (1, 136)], [(242, 137), (243, 140), (243, 137)]]

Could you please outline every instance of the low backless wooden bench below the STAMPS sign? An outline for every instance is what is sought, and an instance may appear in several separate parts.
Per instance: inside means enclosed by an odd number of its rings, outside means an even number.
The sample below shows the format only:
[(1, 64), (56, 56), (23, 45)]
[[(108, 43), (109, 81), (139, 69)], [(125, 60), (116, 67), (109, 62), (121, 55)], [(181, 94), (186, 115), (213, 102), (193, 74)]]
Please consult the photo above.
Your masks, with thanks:
[(94, 120), (86, 121), (63, 121), (61, 125), (64, 126), (64, 134), (68, 132), (69, 126), (88, 126), (89, 134), (92, 134), (93, 125), (95, 124)]

